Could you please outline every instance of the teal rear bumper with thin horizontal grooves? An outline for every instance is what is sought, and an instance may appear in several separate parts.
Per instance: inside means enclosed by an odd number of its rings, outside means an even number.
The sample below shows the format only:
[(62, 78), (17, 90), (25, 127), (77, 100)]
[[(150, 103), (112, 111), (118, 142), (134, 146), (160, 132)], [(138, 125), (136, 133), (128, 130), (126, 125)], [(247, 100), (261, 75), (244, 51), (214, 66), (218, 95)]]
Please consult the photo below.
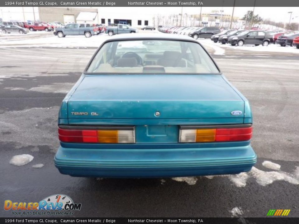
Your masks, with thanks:
[(250, 145), (219, 148), (65, 148), (55, 166), (71, 176), (149, 178), (237, 174), (249, 171), (257, 156)]

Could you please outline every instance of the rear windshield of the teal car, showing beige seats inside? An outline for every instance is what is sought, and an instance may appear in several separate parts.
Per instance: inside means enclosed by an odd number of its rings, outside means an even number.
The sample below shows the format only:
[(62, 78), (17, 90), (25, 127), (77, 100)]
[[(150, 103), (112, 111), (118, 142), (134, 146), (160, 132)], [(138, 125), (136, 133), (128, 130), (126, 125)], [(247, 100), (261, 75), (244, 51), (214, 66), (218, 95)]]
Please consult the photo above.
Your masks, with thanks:
[(88, 73), (219, 73), (200, 44), (172, 40), (124, 40), (104, 44)]

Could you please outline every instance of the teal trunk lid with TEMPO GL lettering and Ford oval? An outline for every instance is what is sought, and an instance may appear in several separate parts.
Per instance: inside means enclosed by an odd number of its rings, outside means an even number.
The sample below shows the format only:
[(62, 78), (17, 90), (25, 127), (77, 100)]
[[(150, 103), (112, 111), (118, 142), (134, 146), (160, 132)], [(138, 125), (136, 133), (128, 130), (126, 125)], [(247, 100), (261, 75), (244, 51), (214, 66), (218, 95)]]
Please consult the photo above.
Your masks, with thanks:
[(80, 119), (240, 119), (244, 101), (221, 75), (87, 75), (68, 101), (68, 118), (73, 123)]

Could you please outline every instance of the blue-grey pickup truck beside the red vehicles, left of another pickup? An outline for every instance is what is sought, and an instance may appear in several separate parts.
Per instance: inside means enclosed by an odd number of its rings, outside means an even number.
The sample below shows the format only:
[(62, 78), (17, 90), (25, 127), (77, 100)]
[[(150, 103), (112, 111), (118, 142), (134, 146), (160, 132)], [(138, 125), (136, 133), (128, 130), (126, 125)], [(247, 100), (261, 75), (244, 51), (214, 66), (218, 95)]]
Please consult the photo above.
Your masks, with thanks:
[(66, 35), (84, 35), (91, 37), (97, 34), (97, 27), (86, 27), (85, 24), (71, 23), (61, 28), (54, 29), (54, 35), (65, 37)]

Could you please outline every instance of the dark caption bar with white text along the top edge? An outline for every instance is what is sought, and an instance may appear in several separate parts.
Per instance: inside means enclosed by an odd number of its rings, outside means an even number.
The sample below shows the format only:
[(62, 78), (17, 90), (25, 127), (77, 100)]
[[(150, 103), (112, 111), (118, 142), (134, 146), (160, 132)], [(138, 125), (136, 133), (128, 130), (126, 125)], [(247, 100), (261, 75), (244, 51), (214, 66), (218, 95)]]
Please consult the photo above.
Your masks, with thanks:
[[(254, 0), (1, 0), (0, 7), (253, 7)], [(255, 7), (299, 7), (294, 0), (256, 0)]]

